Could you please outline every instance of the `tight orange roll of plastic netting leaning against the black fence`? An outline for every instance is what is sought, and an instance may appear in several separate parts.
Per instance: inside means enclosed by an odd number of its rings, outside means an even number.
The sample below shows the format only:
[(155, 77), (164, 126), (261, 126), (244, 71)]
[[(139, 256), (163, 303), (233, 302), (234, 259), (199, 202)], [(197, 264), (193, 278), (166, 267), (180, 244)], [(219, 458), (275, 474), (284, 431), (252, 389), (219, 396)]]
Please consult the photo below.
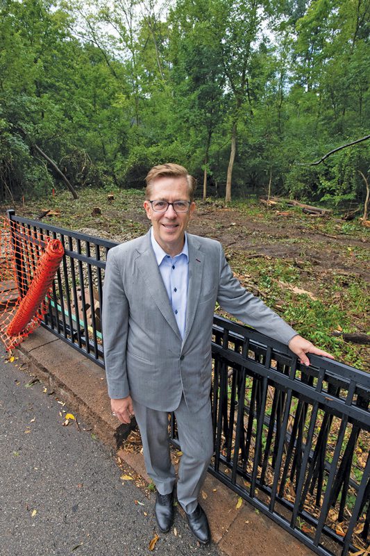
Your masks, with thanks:
[(8, 336), (17, 336), (28, 326), (49, 293), (56, 271), (65, 250), (58, 239), (51, 239), (47, 243), (44, 253), (40, 256), (25, 297), (19, 304), (12, 322), (6, 329)]

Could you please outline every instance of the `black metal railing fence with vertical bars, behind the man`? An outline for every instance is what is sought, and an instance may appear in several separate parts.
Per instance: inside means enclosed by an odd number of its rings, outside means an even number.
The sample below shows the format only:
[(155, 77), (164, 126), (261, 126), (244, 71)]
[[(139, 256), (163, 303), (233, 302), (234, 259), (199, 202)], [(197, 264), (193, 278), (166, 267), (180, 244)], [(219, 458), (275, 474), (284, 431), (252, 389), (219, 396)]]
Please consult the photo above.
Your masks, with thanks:
[[(103, 367), (100, 309), (106, 254), (116, 245), (9, 211), (15, 242), (59, 238), (65, 256), (43, 325)], [(20, 250), (17, 265), (26, 265)], [(215, 457), (210, 473), (319, 555), (369, 544), (370, 375), (288, 348), (215, 316)], [(172, 420), (172, 439), (176, 427)]]

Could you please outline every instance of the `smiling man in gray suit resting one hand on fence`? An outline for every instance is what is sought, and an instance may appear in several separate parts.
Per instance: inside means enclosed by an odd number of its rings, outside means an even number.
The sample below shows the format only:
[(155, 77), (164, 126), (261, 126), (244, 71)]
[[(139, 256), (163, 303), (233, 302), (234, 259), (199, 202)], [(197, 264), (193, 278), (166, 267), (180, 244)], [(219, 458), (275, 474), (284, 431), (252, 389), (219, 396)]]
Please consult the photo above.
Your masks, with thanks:
[(174, 411), (183, 456), (177, 498), (190, 530), (210, 540), (198, 495), (212, 457), (211, 337), (216, 301), (260, 332), (307, 353), (331, 357), (298, 336), (233, 276), (219, 242), (186, 233), (195, 180), (177, 164), (146, 177), (148, 234), (108, 253), (103, 288), (103, 338), (108, 394), (122, 423), (135, 414), (146, 471), (157, 489), (162, 532), (174, 519), (175, 471), (169, 457), (168, 414)]

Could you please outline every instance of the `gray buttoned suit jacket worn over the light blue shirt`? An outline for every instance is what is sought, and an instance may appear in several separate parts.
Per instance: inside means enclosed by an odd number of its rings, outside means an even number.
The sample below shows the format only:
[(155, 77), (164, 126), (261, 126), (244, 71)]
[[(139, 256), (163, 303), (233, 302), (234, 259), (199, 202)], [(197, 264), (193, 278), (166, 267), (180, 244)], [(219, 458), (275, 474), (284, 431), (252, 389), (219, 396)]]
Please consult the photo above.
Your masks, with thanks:
[(216, 300), (260, 332), (284, 343), (294, 329), (239, 284), (218, 241), (187, 234), (189, 288), (182, 339), (150, 233), (113, 247), (103, 288), (103, 340), (110, 398), (172, 411), (181, 395), (197, 411), (211, 383), (211, 336)]

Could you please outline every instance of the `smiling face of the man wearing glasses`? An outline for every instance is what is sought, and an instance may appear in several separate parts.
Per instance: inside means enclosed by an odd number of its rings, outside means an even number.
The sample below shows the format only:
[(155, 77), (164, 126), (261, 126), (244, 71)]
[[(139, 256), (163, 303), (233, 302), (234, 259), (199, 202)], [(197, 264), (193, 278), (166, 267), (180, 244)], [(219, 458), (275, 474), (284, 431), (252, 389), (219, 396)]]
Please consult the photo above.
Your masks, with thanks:
[[(161, 177), (155, 180), (151, 190), (151, 201), (190, 201), (185, 178)], [(181, 252), (184, 236), (195, 204), (192, 202), (187, 213), (176, 213), (169, 205), (165, 213), (153, 211), (149, 201), (144, 201), (146, 216), (153, 224), (155, 240), (167, 254), (174, 256)]]

